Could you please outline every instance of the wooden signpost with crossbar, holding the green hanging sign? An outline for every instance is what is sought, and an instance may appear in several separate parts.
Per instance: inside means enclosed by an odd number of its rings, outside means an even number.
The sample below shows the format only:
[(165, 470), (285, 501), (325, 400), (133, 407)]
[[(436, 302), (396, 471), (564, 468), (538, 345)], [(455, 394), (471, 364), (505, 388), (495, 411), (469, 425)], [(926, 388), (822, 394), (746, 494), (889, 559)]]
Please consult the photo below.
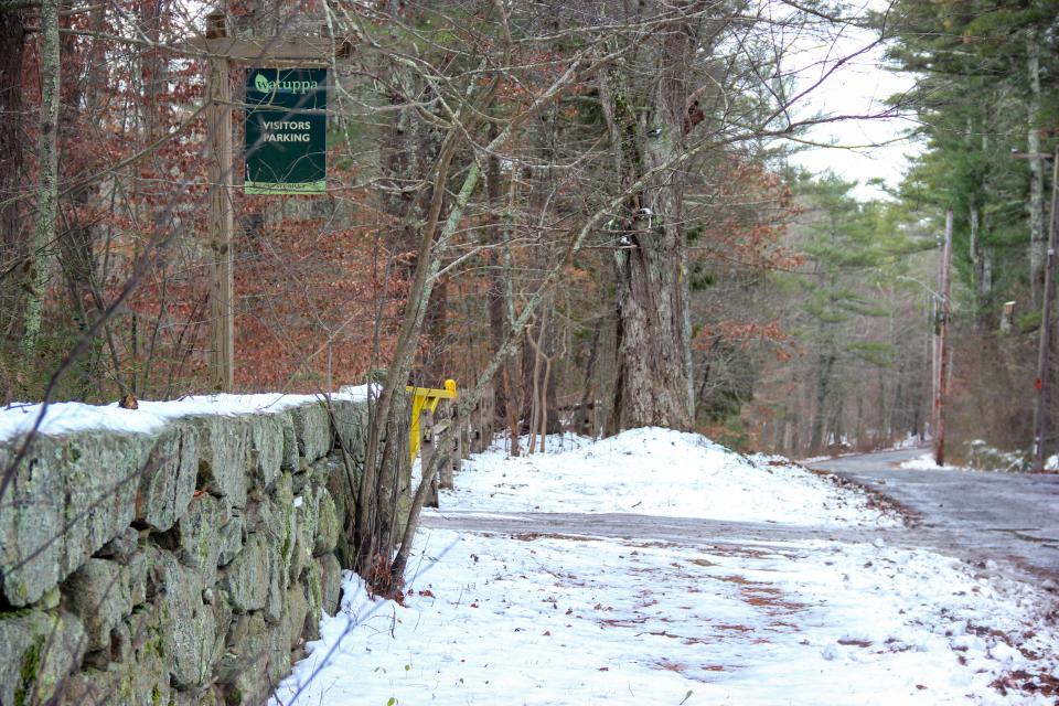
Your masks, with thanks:
[(210, 386), (231, 392), (235, 376), (235, 279), (232, 236), (235, 214), (232, 205), (232, 62), (253, 65), (327, 66), (332, 57), (349, 55), (350, 44), (327, 36), (229, 38), (224, 12), (206, 18), (206, 34), (189, 45), (204, 53), (210, 160)]

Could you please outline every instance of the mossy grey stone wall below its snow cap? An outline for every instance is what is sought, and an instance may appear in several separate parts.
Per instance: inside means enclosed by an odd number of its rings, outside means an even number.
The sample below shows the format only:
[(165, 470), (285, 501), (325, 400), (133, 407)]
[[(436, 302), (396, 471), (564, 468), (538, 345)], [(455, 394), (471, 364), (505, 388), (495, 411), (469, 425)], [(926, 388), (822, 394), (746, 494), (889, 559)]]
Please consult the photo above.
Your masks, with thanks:
[(39, 437), (0, 501), (0, 706), (261, 703), (338, 608), (366, 414)]

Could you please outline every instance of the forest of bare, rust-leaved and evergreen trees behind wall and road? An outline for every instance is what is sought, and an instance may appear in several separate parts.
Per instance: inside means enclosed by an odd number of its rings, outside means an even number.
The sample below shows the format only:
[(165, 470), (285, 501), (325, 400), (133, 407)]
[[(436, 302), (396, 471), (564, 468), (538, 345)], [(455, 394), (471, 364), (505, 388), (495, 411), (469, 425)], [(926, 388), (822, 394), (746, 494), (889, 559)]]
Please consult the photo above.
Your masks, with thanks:
[[(232, 0), (235, 36), (339, 50), (327, 195), (244, 195), (232, 167), (235, 391), (451, 377), (521, 432), (884, 446), (930, 431), (951, 208), (951, 454), (1028, 452), (1059, 6), (873, 7)], [(211, 392), (188, 42), (215, 9), (0, 1), (3, 402)], [(851, 28), (917, 76), (876, 115), (814, 103)], [(923, 150), (886, 199), (791, 160), (813, 125), (895, 115)]]

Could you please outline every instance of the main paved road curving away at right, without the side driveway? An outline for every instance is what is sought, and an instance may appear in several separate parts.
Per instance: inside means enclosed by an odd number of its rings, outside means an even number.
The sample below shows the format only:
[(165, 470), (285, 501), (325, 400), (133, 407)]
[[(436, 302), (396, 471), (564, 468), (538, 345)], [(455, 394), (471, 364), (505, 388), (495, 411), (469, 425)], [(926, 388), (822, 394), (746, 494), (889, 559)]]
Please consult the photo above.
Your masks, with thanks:
[(898, 468), (924, 449), (813, 463), (911, 511), (909, 539), (1059, 580), (1059, 475)]

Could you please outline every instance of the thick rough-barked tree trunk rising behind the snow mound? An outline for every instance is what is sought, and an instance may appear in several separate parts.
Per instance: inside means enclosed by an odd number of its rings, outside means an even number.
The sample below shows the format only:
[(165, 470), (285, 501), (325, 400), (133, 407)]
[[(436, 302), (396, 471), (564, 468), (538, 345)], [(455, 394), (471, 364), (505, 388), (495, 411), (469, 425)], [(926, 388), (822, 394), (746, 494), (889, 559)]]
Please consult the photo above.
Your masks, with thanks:
[[(691, 23), (677, 24), (665, 34), (645, 120), (630, 113), (628, 98), (614, 103), (627, 184), (683, 149), (689, 98), (684, 67), (696, 45), (694, 35)], [(664, 170), (629, 200), (629, 246), (619, 249), (616, 258), (621, 428), (692, 427), (683, 186), (680, 171)]]

